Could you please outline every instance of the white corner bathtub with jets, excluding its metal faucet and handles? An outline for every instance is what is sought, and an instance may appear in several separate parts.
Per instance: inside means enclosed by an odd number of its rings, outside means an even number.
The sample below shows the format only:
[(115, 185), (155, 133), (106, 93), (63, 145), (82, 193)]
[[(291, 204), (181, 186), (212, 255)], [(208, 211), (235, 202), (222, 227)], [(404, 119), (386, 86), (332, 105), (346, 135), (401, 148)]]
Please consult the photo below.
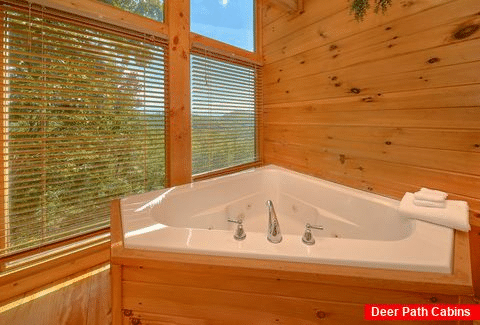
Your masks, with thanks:
[[(267, 241), (268, 209), (283, 240)], [(276, 166), (121, 200), (126, 248), (451, 273), (453, 230), (399, 215), (399, 201)], [(243, 220), (246, 238), (235, 240)], [(305, 245), (305, 224), (314, 245)]]

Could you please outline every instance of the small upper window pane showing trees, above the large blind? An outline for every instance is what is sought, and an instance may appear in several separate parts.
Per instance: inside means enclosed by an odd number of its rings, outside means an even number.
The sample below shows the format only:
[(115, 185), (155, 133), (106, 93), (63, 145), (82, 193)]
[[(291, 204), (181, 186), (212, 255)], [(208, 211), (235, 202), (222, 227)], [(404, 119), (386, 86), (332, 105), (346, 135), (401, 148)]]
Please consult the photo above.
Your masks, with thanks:
[(163, 0), (99, 0), (134, 14), (163, 22)]

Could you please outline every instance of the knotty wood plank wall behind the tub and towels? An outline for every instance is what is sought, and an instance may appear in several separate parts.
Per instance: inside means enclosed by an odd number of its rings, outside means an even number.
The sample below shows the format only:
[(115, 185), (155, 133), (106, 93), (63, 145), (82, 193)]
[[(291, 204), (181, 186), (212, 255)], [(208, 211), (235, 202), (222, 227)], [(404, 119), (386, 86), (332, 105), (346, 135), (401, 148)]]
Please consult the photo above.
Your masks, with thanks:
[(480, 1), (392, 2), (363, 22), (347, 1), (264, 6), (265, 163), (397, 199), (443, 190), (480, 226)]

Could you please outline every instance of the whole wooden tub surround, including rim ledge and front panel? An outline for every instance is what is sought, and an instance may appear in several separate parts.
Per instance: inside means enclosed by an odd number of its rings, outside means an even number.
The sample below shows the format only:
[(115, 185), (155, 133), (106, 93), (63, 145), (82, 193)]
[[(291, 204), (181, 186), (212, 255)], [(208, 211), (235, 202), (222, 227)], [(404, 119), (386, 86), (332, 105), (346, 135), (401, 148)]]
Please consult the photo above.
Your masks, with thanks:
[(363, 324), (367, 303), (473, 302), (463, 232), (453, 274), (441, 274), (128, 249), (120, 200), (111, 230), (113, 325)]

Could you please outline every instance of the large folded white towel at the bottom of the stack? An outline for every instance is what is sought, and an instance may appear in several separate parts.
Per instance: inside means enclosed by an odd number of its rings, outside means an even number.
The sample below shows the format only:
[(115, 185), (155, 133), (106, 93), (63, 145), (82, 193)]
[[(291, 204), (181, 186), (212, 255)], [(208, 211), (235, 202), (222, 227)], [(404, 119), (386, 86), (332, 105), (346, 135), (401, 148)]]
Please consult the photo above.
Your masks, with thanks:
[(398, 207), (399, 213), (407, 218), (428, 221), (462, 231), (470, 230), (468, 203), (446, 200), (445, 208), (421, 207), (413, 203), (413, 193), (405, 193)]

